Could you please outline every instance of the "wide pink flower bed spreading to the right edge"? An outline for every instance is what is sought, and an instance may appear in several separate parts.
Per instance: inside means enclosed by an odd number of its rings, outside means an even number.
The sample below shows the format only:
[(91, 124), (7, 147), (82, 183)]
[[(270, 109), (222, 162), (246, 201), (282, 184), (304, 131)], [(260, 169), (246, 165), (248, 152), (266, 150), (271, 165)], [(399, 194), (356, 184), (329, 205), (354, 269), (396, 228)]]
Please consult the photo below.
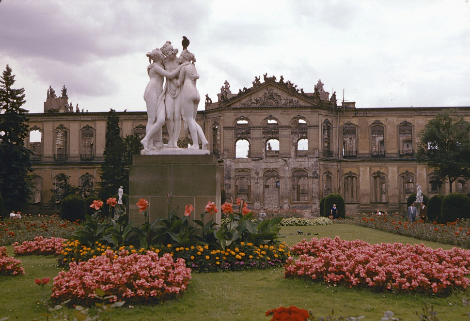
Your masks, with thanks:
[(423, 244), (368, 244), (336, 237), (294, 245), (299, 254), (284, 266), (285, 277), (309, 276), (349, 288), (415, 291), (446, 294), (452, 288), (466, 289), (470, 280), (470, 250), (453, 247), (432, 249)]

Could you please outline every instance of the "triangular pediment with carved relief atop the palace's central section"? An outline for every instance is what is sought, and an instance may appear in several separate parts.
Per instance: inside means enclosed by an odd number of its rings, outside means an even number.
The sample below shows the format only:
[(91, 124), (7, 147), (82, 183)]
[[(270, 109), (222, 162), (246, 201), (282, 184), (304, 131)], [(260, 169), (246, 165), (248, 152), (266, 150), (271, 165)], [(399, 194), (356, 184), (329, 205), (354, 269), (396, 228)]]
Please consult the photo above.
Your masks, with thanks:
[(316, 106), (312, 101), (273, 84), (257, 86), (256, 90), (239, 94), (223, 107), (294, 107)]

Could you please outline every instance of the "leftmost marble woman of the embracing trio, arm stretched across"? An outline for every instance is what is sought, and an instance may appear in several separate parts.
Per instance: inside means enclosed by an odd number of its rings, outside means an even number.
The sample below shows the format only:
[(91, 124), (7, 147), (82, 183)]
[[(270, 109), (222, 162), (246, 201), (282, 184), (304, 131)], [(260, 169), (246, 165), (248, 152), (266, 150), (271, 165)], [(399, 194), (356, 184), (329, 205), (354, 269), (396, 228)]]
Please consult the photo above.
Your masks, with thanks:
[[(186, 64), (176, 67), (172, 72), (163, 69), (163, 59), (165, 56), (158, 48), (147, 53), (149, 61), (153, 61), (147, 67), (147, 73), (150, 80), (145, 88), (143, 99), (147, 105), (147, 127), (145, 128), (145, 137), (142, 138), (141, 144), (144, 150), (157, 150), (163, 148), (163, 141), (161, 138), (161, 128), (165, 123), (165, 101), (164, 96), (167, 93), (163, 90), (163, 77), (174, 78), (178, 75), (181, 68)], [(165, 88), (168, 88), (168, 81)], [(168, 123), (167, 123), (168, 125)], [(159, 134), (158, 134), (159, 133)], [(157, 139), (154, 141), (154, 136), (157, 134)]]

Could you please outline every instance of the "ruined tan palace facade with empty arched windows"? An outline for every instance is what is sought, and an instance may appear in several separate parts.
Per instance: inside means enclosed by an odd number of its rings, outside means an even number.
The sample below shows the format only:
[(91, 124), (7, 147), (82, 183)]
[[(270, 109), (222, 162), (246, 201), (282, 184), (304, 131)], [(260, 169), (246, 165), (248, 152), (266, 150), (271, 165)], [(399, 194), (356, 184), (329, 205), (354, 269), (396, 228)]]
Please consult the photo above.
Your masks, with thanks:
[[(448, 193), (447, 184), (438, 187), (432, 170), (416, 160), (419, 132), (444, 108), (356, 108), (338, 105), (321, 81), (305, 93), (282, 76), (260, 78), (237, 94), (225, 82), (218, 101), (206, 95), (205, 110), (198, 111), (209, 149), (219, 158), (222, 201), (241, 198), (252, 209), (295, 208), (317, 216), (319, 200), (339, 193), (349, 213), (406, 213), (417, 183), (429, 197)], [(470, 121), (470, 107), (454, 109)], [(44, 110), (28, 115), (36, 138), (30, 135), (27, 145), (36, 183), (31, 211), (46, 212), (54, 208), (50, 190), (58, 174), (74, 185), (99, 181), (108, 113), (74, 112), (66, 91), (59, 98), (48, 94)], [(118, 115), (123, 136), (144, 135), (145, 112)], [(464, 180), (454, 185), (470, 192)]]

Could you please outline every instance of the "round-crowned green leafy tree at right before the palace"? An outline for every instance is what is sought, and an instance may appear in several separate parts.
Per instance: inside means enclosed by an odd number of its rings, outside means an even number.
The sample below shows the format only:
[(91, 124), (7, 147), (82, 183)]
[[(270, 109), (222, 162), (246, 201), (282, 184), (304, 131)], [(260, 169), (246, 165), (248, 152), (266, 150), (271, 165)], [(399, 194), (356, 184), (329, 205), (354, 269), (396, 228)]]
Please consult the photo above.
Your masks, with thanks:
[(444, 110), (430, 120), (419, 134), (418, 162), (434, 170), (440, 183), (470, 178), (470, 123), (454, 111)]

